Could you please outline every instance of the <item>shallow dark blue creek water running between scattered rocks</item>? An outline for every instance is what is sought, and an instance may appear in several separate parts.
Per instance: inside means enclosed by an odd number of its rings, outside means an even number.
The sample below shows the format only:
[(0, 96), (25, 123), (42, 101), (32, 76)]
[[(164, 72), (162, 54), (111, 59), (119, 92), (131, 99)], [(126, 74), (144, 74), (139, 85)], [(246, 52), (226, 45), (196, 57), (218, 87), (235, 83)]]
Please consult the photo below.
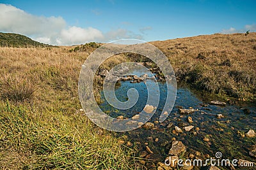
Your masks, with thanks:
[[(133, 74), (141, 76), (140, 70), (134, 71)], [(152, 80), (151, 80), (152, 81)], [(202, 92), (190, 89), (186, 83), (180, 83), (177, 89), (177, 97), (173, 110), (164, 122), (159, 124), (156, 122), (159, 119), (164, 103), (166, 101), (166, 83), (158, 82), (160, 89), (160, 102), (156, 113), (149, 120), (154, 123), (154, 129), (135, 129), (129, 132), (116, 132), (116, 136), (122, 138), (126, 136), (125, 140), (131, 141), (134, 148), (137, 150), (145, 150), (145, 143), (154, 152), (149, 159), (154, 162), (163, 162), (168, 157), (168, 150), (172, 146), (172, 138), (182, 141), (187, 148), (188, 153), (195, 153), (196, 151), (208, 157), (215, 157), (216, 152), (221, 152), (225, 159), (245, 159), (255, 162), (253, 157), (250, 157), (248, 152), (253, 145), (256, 145), (255, 138), (243, 137), (243, 134), (248, 130), (256, 130), (256, 106), (251, 105), (229, 105), (215, 106), (209, 104), (211, 96), (204, 96)], [(134, 88), (138, 90), (138, 102), (128, 110), (118, 110), (113, 108), (104, 99), (104, 93), (101, 93), (103, 103), (100, 108), (111, 117), (118, 117), (123, 115), (126, 118), (131, 118), (140, 113), (147, 103), (148, 92), (145, 83), (130, 83), (129, 81), (121, 81), (120, 85), (115, 88), (115, 95), (120, 101), (127, 101), (127, 90)], [(204, 92), (203, 92), (204, 93)], [(197, 110), (189, 115), (179, 113), (179, 108), (192, 107)], [(244, 113), (244, 109), (250, 110), (250, 114)], [(218, 119), (217, 114), (222, 114), (224, 118)], [(188, 117), (193, 119), (192, 123), (188, 123)], [(172, 123), (172, 127), (167, 126)], [(199, 127), (199, 131), (195, 127), (191, 131), (173, 134), (174, 126), (177, 125), (182, 129), (184, 126), (193, 125)], [(196, 134), (195, 134), (196, 132)], [(204, 141), (205, 136), (209, 141)], [(156, 138), (158, 140), (156, 141)], [(136, 146), (135, 146), (136, 145)], [(207, 157), (207, 156), (206, 156)]]

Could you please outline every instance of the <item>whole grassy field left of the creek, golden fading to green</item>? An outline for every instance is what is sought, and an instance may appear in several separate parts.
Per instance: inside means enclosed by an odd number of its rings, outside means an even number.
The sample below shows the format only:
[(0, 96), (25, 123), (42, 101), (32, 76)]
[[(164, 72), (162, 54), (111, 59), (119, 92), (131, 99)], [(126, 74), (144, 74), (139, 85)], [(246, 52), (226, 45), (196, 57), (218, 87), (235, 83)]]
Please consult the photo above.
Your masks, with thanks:
[(139, 169), (133, 150), (79, 111), (79, 73), (93, 49), (69, 50), (0, 48), (0, 169)]

